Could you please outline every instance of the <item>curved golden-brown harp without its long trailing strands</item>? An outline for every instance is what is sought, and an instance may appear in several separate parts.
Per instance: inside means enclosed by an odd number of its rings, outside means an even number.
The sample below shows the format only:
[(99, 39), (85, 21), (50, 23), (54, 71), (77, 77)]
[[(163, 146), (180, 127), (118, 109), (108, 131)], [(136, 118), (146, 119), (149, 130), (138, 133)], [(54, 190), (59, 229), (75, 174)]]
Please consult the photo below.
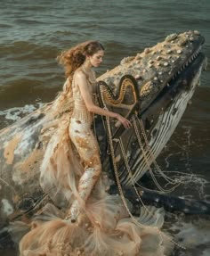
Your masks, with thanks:
[[(133, 76), (123, 76), (115, 87), (115, 92), (104, 81), (98, 82), (97, 89), (101, 108), (117, 112), (128, 120), (132, 120), (133, 116), (138, 116), (140, 111), (139, 89)], [(107, 136), (111, 134), (111, 144), (114, 149), (114, 154), (110, 153), (111, 161), (116, 164), (120, 183), (126, 186), (129, 184), (130, 175), (134, 176), (136, 171), (138, 172), (138, 169), (133, 168), (134, 159), (138, 157), (136, 153), (140, 153), (137, 150), (139, 145), (137, 144), (134, 128), (126, 129), (115, 119), (109, 119), (109, 122), (105, 121), (105, 129)], [(109, 129), (110, 133), (108, 133)], [(110, 141), (108, 141), (108, 144), (110, 151)], [(130, 174), (128, 173), (128, 167), (132, 172)]]

